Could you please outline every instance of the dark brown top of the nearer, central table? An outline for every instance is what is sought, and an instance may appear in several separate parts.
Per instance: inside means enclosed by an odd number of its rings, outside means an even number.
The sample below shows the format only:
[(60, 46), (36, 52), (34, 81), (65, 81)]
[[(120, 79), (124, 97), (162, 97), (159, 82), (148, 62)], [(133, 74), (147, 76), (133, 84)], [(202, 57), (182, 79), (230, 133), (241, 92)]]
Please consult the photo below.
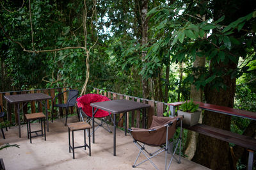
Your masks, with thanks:
[(111, 112), (113, 114), (118, 114), (121, 112), (135, 111), (138, 109), (145, 109), (150, 107), (149, 104), (141, 104), (139, 102), (134, 102), (131, 100), (110, 100), (106, 102), (97, 102), (90, 104), (92, 107), (97, 109), (102, 109), (104, 111)]

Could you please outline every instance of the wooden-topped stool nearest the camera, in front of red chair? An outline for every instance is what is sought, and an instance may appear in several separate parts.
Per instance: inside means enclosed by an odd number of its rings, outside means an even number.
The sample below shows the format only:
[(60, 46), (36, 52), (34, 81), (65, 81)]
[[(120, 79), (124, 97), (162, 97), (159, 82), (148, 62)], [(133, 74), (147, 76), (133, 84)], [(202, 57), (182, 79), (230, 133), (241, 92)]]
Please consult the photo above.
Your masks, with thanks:
[[(91, 137), (90, 137), (90, 128), (92, 128), (88, 123), (86, 122), (77, 122), (77, 123), (68, 123), (68, 148), (69, 152), (72, 150), (73, 152), (73, 158), (75, 158), (75, 149), (76, 148), (83, 148), (86, 150), (86, 147), (89, 148), (89, 155), (91, 156)], [(86, 144), (86, 129), (88, 129), (89, 133), (89, 145)], [(70, 144), (70, 130), (72, 131), (72, 146)], [(84, 130), (84, 145), (81, 146), (74, 146), (74, 131), (77, 130)]]

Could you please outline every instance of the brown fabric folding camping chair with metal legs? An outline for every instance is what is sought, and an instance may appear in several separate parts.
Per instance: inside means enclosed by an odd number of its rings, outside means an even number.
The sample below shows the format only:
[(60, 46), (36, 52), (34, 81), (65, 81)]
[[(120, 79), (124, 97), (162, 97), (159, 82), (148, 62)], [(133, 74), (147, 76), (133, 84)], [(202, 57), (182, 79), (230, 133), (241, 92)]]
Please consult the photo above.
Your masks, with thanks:
[[(151, 158), (155, 157), (156, 155), (159, 155), (159, 153), (162, 153), (165, 151), (165, 169), (169, 169), (173, 158), (177, 160), (178, 163), (180, 163), (180, 153), (181, 153), (181, 141), (182, 141), (182, 116), (176, 116), (174, 118), (170, 117), (157, 117), (153, 116), (153, 121), (150, 126), (150, 128), (131, 128), (131, 135), (134, 139), (134, 144), (139, 148), (140, 152), (134, 161), (134, 164), (132, 167), (137, 167), (143, 162), (146, 162), (149, 160), (151, 164), (156, 168), (156, 164), (152, 162)], [(175, 134), (177, 126), (180, 124), (180, 133), (179, 137), (170, 143), (170, 139)], [(142, 144), (140, 144), (140, 143)], [(174, 151), (170, 151), (172, 154), (172, 158), (167, 166), (167, 153), (168, 153), (168, 146), (170, 144), (175, 144)], [(162, 148), (159, 148), (159, 150), (155, 151), (154, 153), (148, 153), (148, 151), (145, 149), (145, 144), (148, 146), (163, 146)], [(179, 160), (175, 157), (175, 152), (177, 151), (179, 145)], [(143, 160), (142, 162), (136, 164), (138, 158), (140, 157), (140, 154), (143, 153), (147, 158)], [(147, 154), (148, 155), (147, 155)]]

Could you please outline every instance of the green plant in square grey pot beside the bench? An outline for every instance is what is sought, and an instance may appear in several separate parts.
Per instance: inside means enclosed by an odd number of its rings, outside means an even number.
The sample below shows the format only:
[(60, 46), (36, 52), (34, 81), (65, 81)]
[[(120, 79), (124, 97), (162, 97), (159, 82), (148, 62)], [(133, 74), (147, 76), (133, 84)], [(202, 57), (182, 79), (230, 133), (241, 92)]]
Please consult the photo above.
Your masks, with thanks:
[(183, 115), (183, 123), (185, 125), (188, 125), (189, 127), (192, 127), (196, 124), (198, 124), (201, 111), (197, 111), (199, 105), (195, 104), (193, 100), (190, 102), (185, 102), (184, 104), (180, 105), (180, 109), (178, 111), (178, 115)]

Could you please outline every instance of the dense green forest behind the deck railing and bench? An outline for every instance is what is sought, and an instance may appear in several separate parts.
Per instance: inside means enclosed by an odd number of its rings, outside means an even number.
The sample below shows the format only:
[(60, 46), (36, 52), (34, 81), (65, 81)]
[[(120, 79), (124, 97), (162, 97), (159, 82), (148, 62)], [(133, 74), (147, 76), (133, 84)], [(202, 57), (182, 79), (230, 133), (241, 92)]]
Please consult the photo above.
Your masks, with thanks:
[[(68, 86), (83, 95), (96, 87), (256, 112), (255, 11), (253, 0), (4, 0), (0, 88)], [(202, 121), (255, 137), (255, 121), (211, 112)], [(211, 169), (245, 167), (246, 150), (188, 136), (200, 139), (193, 151), (189, 142), (184, 148), (193, 161)]]

